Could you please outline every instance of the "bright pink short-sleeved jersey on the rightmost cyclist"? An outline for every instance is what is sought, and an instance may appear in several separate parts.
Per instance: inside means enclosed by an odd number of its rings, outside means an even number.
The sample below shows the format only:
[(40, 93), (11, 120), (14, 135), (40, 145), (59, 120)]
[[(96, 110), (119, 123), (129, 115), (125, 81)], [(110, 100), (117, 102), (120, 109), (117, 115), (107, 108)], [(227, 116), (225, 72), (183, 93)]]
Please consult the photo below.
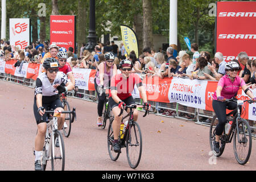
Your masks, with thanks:
[[(241, 77), (236, 76), (235, 80), (232, 82), (228, 75), (224, 75), (220, 78), (220, 81), (218, 81), (217, 86), (221, 86), (221, 96), (224, 98), (232, 98), (236, 96), (238, 89), (240, 86), (246, 85), (245, 80), (243, 80)], [(213, 94), (213, 100), (217, 100), (216, 91)]]

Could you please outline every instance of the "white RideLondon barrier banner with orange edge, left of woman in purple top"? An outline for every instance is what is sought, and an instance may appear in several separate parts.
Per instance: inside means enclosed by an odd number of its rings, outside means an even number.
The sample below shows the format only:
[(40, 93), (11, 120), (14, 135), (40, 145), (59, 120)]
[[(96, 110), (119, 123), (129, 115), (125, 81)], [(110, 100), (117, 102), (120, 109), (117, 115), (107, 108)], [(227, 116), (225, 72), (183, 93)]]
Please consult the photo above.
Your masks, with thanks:
[(78, 86), (79, 89), (84, 90), (95, 90), (93, 78), (95, 76), (96, 71), (93, 69), (81, 69), (81, 68), (73, 68), (73, 75), (75, 77), (75, 85)]

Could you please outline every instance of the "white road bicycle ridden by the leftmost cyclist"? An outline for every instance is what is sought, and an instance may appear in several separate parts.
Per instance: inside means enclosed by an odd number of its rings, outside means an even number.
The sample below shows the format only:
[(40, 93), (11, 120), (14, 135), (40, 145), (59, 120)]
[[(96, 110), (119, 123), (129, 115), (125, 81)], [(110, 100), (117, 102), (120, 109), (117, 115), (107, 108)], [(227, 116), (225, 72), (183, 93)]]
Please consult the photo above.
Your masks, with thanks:
[[(61, 112), (47, 110), (45, 113), (47, 113), (47, 128), (43, 146), (42, 171), (46, 170), (48, 160), (51, 160), (52, 171), (64, 171), (65, 147), (63, 137), (58, 130), (57, 120), (61, 113), (65, 113), (72, 114), (73, 121), (76, 118), (76, 109), (73, 108), (72, 111)], [(59, 145), (57, 144), (57, 141), (59, 142)]]

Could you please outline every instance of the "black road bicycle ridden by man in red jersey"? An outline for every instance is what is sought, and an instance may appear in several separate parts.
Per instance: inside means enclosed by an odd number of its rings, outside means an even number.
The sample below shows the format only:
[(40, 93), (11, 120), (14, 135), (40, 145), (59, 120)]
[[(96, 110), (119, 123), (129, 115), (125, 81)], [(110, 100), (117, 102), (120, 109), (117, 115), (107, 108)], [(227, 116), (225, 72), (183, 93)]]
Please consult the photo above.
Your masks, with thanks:
[[(120, 148), (126, 147), (127, 160), (128, 160), (129, 166), (133, 169), (135, 169), (139, 165), (139, 162), (141, 160), (141, 155), (142, 155), (141, 128), (139, 127), (138, 122), (135, 122), (133, 120), (133, 112), (134, 112), (134, 109), (136, 109), (137, 107), (142, 107), (142, 106), (137, 106), (137, 105), (126, 106), (126, 109), (129, 108), (130, 111), (125, 117), (122, 117), (121, 122), (123, 123), (123, 119), (127, 117), (129, 117), (129, 120), (127, 122), (125, 133), (123, 134), (122, 132), (119, 132), (119, 137), (118, 137), (118, 143)], [(118, 116), (122, 115), (122, 113), (123, 113), (123, 109), (121, 110)], [(149, 114), (149, 112), (146, 110), (143, 117), (146, 117), (147, 114)], [(114, 133), (112, 128), (113, 121), (114, 121), (114, 117), (110, 120), (109, 128), (108, 128), (108, 151), (109, 151), (110, 159), (115, 161), (119, 158), (121, 151), (114, 152), (114, 149), (113, 149), (113, 142), (114, 142)], [(123, 137), (121, 137), (122, 135)]]

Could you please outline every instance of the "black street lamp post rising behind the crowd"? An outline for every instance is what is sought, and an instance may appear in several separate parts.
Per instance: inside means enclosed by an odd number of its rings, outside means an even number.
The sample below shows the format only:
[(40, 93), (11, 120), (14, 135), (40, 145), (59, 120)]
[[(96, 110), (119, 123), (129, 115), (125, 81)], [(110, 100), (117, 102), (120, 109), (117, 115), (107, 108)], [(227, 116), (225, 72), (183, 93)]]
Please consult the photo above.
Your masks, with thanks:
[(88, 43), (85, 45), (85, 49), (92, 52), (96, 46), (96, 20), (95, 20), (95, 0), (90, 0), (90, 23), (89, 23), (89, 35), (87, 36)]

